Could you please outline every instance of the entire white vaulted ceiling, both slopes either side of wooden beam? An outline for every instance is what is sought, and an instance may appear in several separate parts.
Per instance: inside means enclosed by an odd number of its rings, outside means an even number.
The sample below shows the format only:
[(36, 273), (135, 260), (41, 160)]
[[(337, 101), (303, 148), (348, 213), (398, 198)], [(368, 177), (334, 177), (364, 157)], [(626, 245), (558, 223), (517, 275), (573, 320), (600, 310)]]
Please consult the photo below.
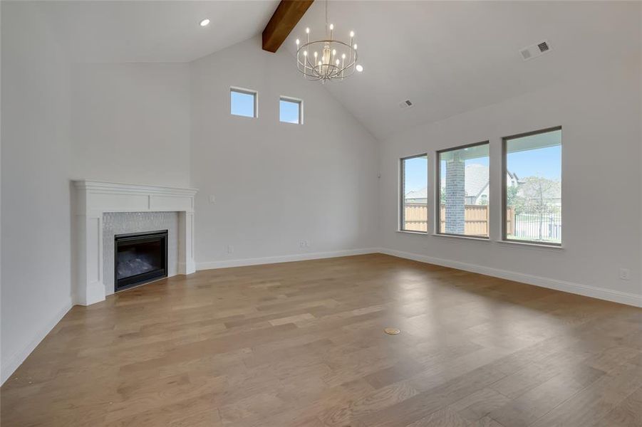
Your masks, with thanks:
[[(261, 33), (269, 1), (47, 1), (41, 4), (72, 60), (195, 60)], [(317, 0), (281, 49), (324, 25)], [(356, 31), (365, 70), (326, 83), (370, 132), (386, 139), (509, 97), (579, 78), (596, 64), (640, 57), (641, 3), (617, 1), (328, 2), (336, 33)], [(207, 28), (198, 22), (211, 19)], [(552, 50), (524, 61), (519, 50)], [(258, 48), (257, 48), (258, 49)], [(311, 85), (321, 83), (309, 83)], [(399, 102), (411, 100), (402, 110)]]

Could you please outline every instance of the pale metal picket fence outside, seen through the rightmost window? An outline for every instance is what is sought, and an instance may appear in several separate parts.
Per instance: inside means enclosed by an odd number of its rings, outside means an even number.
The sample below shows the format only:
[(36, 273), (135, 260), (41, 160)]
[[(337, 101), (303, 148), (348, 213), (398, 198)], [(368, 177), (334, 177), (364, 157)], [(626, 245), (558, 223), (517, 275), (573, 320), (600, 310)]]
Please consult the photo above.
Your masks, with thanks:
[(557, 206), (517, 209), (511, 237), (530, 241), (561, 241), (561, 209)]

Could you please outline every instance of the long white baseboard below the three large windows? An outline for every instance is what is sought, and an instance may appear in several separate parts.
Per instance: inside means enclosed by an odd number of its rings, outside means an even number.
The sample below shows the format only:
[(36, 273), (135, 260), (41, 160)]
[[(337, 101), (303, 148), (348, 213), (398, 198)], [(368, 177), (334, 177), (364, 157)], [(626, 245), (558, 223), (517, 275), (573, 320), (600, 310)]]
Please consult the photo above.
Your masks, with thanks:
[(380, 248), (379, 252), (385, 253), (386, 255), (397, 256), (399, 258), (420, 261), (421, 263), (442, 265), (443, 267), (456, 268), (457, 270), (465, 270), (472, 273), (490, 275), (495, 278), (513, 280), (514, 282), (527, 283), (529, 285), (540, 286), (542, 288), (561, 290), (563, 292), (584, 295), (586, 297), (599, 298), (600, 300), (620, 302), (621, 304), (642, 307), (642, 295), (637, 295), (630, 292), (619, 292), (617, 290), (598, 288), (596, 286), (566, 282), (565, 280), (544, 278), (542, 276), (517, 273), (514, 271), (501, 270), (499, 268), (490, 268), (477, 264), (461, 263), (460, 261), (434, 258), (427, 255), (419, 255), (417, 253), (395, 251), (393, 249)]

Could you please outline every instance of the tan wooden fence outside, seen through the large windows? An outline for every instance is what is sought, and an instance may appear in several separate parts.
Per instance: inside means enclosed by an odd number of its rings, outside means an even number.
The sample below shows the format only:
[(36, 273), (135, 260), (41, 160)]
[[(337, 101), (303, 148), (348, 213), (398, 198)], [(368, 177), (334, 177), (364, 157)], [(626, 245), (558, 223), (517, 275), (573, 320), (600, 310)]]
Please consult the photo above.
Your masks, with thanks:
[[(466, 205), (464, 206), (464, 234), (467, 236), (488, 236), (488, 206), (487, 205)], [(446, 208), (441, 205), (439, 214), (441, 218), (440, 233), (445, 232)], [(428, 231), (428, 207), (425, 204), (405, 204), (404, 220), (405, 230)], [(507, 209), (507, 233), (514, 233), (515, 211)]]

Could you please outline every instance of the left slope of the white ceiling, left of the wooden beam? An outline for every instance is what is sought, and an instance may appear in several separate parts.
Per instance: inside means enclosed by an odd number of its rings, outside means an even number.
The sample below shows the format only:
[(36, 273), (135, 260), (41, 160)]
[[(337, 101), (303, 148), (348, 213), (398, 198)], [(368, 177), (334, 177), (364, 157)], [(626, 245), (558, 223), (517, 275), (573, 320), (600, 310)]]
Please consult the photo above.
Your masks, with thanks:
[[(187, 62), (260, 33), (279, 0), (41, 1), (71, 60)], [(210, 20), (201, 28), (202, 19)]]

